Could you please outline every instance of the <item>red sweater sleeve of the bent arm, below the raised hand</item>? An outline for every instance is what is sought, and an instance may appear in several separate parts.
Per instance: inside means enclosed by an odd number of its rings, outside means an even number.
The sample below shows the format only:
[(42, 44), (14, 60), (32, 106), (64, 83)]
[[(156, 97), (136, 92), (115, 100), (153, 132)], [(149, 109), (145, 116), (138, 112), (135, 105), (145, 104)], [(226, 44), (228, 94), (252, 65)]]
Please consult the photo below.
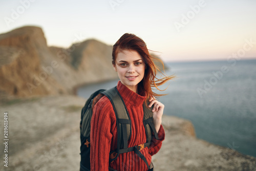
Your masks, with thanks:
[(158, 131), (158, 138), (159, 140), (156, 140), (156, 138), (154, 137), (151, 141), (151, 145), (148, 148), (148, 153), (153, 156), (155, 155), (161, 148), (162, 146), (162, 141), (164, 140), (165, 137), (165, 133), (164, 133), (164, 129), (163, 126), (160, 126), (160, 129)]

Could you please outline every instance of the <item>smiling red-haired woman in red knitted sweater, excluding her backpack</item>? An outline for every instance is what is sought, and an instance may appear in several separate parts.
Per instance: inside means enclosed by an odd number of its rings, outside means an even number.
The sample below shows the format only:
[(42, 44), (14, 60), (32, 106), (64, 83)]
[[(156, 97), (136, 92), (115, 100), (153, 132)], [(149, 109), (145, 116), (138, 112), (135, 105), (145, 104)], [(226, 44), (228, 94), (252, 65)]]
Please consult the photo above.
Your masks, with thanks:
[[(134, 34), (125, 33), (113, 47), (112, 64), (120, 81), (117, 90), (124, 100), (131, 118), (132, 132), (128, 147), (146, 141), (143, 126), (143, 106), (149, 100), (148, 107), (154, 105), (153, 123), (159, 139), (153, 138), (150, 147), (141, 150), (146, 161), (151, 163), (164, 140), (161, 125), (164, 105), (155, 100), (160, 96), (151, 87), (160, 86), (173, 77), (156, 78), (157, 68), (146, 47), (145, 42)], [(157, 88), (158, 89), (158, 88)], [(93, 108), (91, 121), (91, 170), (148, 170), (147, 165), (134, 152), (120, 154), (109, 164), (110, 152), (117, 148), (116, 117), (110, 100), (103, 96)]]

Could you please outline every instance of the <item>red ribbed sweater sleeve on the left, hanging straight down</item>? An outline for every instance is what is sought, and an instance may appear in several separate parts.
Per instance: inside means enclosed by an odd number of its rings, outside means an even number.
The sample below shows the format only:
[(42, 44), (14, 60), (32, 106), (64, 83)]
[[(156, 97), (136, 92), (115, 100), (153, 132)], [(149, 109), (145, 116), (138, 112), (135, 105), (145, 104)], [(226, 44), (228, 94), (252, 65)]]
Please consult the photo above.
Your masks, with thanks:
[(109, 170), (113, 114), (112, 104), (107, 97), (102, 97), (93, 108), (90, 137), (91, 170)]

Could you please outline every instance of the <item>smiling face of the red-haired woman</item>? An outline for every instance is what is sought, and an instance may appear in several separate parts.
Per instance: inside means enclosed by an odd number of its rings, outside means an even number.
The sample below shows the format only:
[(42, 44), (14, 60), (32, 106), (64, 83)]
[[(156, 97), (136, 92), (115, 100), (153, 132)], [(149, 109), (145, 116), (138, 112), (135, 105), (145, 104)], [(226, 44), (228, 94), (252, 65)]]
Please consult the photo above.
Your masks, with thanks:
[(143, 79), (145, 72), (145, 62), (139, 53), (134, 50), (119, 52), (113, 67), (122, 84), (133, 92), (138, 93), (138, 83)]

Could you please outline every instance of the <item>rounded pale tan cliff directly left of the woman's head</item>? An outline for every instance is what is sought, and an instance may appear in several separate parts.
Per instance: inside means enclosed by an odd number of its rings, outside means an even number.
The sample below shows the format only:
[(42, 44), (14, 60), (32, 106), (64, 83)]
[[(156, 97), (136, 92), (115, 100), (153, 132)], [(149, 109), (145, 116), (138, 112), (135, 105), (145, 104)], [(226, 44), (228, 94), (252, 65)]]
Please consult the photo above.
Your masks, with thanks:
[(71, 64), (80, 73), (79, 77), (83, 75), (83, 82), (118, 78), (112, 66), (112, 46), (93, 39), (74, 46), (76, 50), (71, 52)]

